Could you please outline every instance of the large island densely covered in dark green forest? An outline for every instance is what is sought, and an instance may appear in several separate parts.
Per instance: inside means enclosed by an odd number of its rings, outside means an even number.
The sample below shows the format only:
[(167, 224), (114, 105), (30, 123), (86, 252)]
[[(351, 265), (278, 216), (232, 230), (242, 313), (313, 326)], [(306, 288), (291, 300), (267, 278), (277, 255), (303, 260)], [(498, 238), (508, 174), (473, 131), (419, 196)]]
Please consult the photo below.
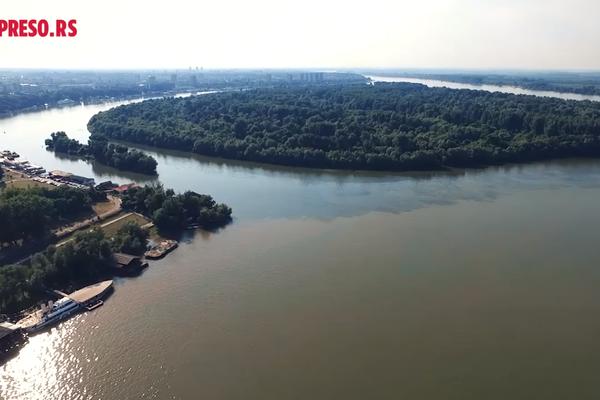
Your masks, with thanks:
[(257, 89), (149, 100), (94, 134), (308, 167), (415, 170), (600, 155), (600, 104), (408, 83)]

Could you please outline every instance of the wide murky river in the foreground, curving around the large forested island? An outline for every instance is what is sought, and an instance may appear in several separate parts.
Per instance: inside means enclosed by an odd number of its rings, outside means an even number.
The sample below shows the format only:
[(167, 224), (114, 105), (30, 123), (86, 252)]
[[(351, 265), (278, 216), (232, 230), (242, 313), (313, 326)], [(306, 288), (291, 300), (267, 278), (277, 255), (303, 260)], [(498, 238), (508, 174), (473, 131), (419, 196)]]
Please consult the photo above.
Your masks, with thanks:
[[(0, 148), (145, 181), (44, 149), (116, 104), (0, 120)], [(234, 222), (30, 338), (0, 398), (600, 398), (600, 161), (385, 174), (145, 150)]]

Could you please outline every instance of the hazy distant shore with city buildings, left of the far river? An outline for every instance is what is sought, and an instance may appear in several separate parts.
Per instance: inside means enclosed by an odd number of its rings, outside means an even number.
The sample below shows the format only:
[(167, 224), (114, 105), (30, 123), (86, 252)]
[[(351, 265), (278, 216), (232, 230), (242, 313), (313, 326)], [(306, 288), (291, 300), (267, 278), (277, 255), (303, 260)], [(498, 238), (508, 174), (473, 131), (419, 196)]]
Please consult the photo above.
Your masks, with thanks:
[[(364, 82), (351, 73), (308, 71), (0, 71), (0, 116), (61, 105), (114, 101), (199, 90), (228, 90), (304, 84), (319, 75), (321, 84)], [(322, 80), (321, 80), (322, 78)], [(314, 81), (314, 79), (312, 79)]]

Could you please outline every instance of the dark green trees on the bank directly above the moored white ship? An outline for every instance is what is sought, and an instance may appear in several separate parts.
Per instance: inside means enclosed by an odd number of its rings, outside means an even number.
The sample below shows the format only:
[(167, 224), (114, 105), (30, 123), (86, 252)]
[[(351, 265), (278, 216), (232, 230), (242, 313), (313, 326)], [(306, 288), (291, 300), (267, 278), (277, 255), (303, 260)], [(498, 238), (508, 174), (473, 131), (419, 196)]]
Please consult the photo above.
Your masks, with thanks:
[(109, 273), (110, 242), (101, 231), (79, 233), (21, 265), (0, 266), (0, 313), (16, 313), (45, 299), (49, 288), (67, 289)]

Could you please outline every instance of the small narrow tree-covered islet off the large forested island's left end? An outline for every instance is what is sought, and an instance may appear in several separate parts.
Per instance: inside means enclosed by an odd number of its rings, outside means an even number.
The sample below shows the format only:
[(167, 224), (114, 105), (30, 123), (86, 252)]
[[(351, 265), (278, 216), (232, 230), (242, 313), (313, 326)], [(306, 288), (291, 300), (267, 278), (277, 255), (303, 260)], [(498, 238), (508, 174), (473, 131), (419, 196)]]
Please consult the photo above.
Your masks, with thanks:
[(154, 157), (120, 144), (109, 143), (102, 135), (90, 136), (86, 145), (70, 139), (65, 132), (53, 132), (45, 143), (48, 150), (58, 153), (93, 158), (101, 164), (124, 171), (156, 174), (157, 162)]

